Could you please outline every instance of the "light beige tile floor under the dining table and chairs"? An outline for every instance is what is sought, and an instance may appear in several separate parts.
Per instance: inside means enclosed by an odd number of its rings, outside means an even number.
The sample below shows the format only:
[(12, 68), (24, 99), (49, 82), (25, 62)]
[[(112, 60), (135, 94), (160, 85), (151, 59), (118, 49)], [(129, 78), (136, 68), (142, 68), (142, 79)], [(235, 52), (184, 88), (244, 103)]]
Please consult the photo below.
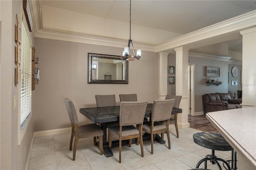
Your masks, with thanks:
[[(119, 149), (112, 147), (114, 156), (106, 158), (100, 155), (99, 148), (93, 145), (93, 139), (80, 139), (76, 150), (76, 160), (72, 160), (73, 151), (69, 150), (70, 133), (38, 137), (30, 158), (29, 170), (189, 170), (196, 168), (199, 160), (211, 150), (203, 148), (193, 141), (193, 134), (200, 132), (192, 128), (179, 128), (176, 138), (175, 127), (170, 125), (171, 149), (166, 144), (154, 142), (154, 154), (151, 154), (150, 140), (144, 141), (144, 157), (140, 154), (140, 145), (122, 146), (122, 163), (118, 163)], [(167, 140), (165, 134), (165, 140)], [(216, 151), (216, 156), (230, 160), (231, 151)], [(203, 168), (201, 164), (200, 168)], [(216, 165), (208, 162), (208, 169), (217, 170)], [(222, 168), (224, 169), (224, 168)]]

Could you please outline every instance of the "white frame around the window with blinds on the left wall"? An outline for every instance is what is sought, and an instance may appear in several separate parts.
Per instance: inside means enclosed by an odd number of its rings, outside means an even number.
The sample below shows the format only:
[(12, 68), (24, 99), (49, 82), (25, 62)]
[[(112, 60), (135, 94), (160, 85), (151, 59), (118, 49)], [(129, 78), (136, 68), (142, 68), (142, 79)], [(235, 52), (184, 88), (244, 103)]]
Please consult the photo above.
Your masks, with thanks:
[[(25, 17), (25, 13), (24, 13), (24, 9), (23, 9), (23, 6), (22, 6), (22, 3), (20, 3), (20, 20), (19, 20), (19, 28), (20, 29), (20, 41), (22, 41), (22, 31), (26, 31), (27, 35), (28, 35), (28, 40), (30, 42), (30, 50), (31, 50), (31, 53), (30, 55), (32, 56), (32, 38), (30, 36), (30, 32), (29, 32), (29, 28), (28, 28), (28, 24), (26, 22), (26, 17)], [(22, 29), (22, 23), (24, 24), (24, 27), (25, 27), (25, 30)], [(19, 45), (20, 46), (20, 49), (22, 48), (22, 44)], [(18, 50), (20, 50), (18, 49)], [(22, 52), (20, 53), (20, 57), (22, 57)], [(20, 58), (20, 61), (22, 61), (22, 58)], [(21, 64), (20, 64), (21, 66)], [(32, 73), (32, 60), (30, 61), (30, 68), (31, 68), (31, 73)], [(31, 79), (32, 79), (32, 76), (31, 76)], [(22, 82), (21, 82), (22, 83)], [(26, 123), (24, 125), (24, 128), (21, 132), (21, 122), (20, 122), (20, 118), (21, 118), (21, 83), (18, 84), (18, 145), (21, 144), (22, 142), (22, 139), (24, 138), (24, 134), (26, 133), (26, 130), (27, 130), (27, 127), (28, 125), (30, 124), (30, 121), (31, 121), (31, 117), (32, 117), (32, 81), (30, 82), (31, 85), (30, 85), (30, 114), (28, 115), (28, 118), (26, 118)]]

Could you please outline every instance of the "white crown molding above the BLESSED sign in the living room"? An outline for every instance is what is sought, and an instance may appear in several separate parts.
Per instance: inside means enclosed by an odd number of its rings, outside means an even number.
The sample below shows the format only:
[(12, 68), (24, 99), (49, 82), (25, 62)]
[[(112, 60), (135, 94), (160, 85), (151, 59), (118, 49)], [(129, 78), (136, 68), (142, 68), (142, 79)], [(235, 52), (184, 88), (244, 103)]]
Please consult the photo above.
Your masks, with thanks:
[(193, 52), (193, 51), (189, 51), (188, 56), (189, 57), (206, 58), (206, 59), (211, 59), (211, 60), (221, 60), (221, 61), (230, 61), (230, 58), (231, 58), (229, 56), (221, 56), (221, 55), (216, 55), (216, 54), (206, 54), (206, 53)]

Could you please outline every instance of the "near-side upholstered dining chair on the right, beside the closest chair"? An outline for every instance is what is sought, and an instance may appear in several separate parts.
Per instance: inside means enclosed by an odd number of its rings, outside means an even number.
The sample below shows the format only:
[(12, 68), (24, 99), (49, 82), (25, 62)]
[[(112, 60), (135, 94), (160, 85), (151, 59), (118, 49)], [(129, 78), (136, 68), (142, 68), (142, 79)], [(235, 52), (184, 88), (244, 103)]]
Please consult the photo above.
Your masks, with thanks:
[[(169, 122), (172, 114), (172, 107), (174, 101), (175, 99), (154, 100), (151, 119), (150, 121), (143, 123), (142, 130), (144, 132), (150, 133), (151, 154), (153, 154), (153, 141), (156, 137), (156, 134), (162, 134), (166, 132), (168, 139), (168, 148), (171, 149)], [(164, 121), (165, 124), (163, 124), (161, 121)]]

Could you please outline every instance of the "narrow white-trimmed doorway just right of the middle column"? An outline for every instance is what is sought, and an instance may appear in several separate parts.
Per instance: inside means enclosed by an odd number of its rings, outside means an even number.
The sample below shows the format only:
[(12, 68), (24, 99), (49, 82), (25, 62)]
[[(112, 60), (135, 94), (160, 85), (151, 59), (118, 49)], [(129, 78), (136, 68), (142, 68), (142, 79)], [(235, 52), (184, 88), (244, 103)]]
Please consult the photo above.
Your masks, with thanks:
[(195, 115), (195, 64), (188, 64), (188, 94), (189, 94), (189, 104), (188, 104), (188, 115)]

